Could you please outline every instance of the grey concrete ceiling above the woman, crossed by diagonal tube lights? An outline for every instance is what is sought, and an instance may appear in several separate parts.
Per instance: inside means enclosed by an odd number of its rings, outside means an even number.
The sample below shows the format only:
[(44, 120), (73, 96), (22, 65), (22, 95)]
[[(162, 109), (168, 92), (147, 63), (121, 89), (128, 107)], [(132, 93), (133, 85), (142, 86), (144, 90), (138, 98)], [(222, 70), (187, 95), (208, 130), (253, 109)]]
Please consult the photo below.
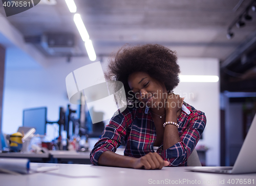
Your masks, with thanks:
[[(225, 60), (256, 32), (256, 13), (244, 28), (229, 24), (251, 0), (74, 0), (97, 56), (109, 55), (123, 44), (158, 43), (177, 51), (178, 57), (210, 57)], [(56, 5), (39, 3), (7, 19), (24, 36), (46, 32), (72, 32), (81, 37), (64, 0)], [(234, 7), (242, 2), (234, 11)], [(5, 15), (1, 5), (0, 13)], [(85, 50), (84, 50), (85, 51)], [(86, 52), (84, 53), (86, 55)]]

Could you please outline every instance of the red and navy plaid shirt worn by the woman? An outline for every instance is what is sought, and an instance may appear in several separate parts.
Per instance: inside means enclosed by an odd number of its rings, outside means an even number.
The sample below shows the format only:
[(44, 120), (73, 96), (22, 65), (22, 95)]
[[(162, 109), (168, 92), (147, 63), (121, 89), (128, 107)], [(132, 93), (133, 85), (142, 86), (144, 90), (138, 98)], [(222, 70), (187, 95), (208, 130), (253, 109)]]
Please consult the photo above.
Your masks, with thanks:
[[(169, 166), (187, 166), (187, 157), (194, 150), (205, 128), (206, 117), (203, 112), (196, 110), (184, 102), (190, 111), (187, 115), (184, 111), (177, 118), (180, 142), (163, 150), (163, 144), (157, 149), (157, 153), (163, 160), (170, 163)], [(149, 152), (154, 152), (156, 129), (151, 112), (145, 114), (145, 108), (126, 108), (125, 111), (113, 117), (105, 126), (100, 140), (91, 151), (90, 159), (94, 165), (98, 165), (99, 156), (107, 150), (116, 151), (124, 139), (124, 155), (141, 157)]]

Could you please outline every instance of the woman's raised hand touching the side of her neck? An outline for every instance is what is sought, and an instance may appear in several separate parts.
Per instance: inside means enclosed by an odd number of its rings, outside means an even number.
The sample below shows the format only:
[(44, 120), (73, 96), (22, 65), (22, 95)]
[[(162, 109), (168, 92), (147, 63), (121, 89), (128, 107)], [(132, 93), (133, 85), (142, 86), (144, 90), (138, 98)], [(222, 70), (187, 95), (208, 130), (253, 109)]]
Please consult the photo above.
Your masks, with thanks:
[(179, 110), (181, 110), (182, 104), (183, 104), (184, 97), (180, 97), (178, 94), (169, 93), (168, 97), (165, 101), (165, 110), (166, 112), (174, 112), (177, 113)]

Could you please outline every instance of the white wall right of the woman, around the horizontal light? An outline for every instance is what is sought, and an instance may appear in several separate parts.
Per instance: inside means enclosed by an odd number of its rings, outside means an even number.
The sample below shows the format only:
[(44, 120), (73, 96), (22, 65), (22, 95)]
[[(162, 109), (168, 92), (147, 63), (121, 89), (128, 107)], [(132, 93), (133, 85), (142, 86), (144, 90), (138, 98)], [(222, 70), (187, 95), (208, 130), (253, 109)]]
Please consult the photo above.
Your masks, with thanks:
[[(182, 75), (218, 75), (219, 61), (212, 58), (179, 58)], [(206, 166), (220, 165), (220, 98), (219, 82), (185, 83), (181, 82), (174, 90), (185, 97), (184, 101), (205, 113), (207, 123), (203, 139), (199, 145), (209, 148), (206, 153)]]

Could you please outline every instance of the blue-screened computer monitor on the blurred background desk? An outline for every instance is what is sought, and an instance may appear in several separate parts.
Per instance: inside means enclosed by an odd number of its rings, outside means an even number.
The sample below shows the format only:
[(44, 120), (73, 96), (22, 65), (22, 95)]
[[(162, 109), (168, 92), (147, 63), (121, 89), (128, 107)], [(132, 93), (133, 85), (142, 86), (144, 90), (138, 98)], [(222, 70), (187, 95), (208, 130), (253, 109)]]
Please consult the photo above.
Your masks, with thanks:
[(35, 134), (45, 135), (46, 133), (47, 108), (34, 108), (23, 110), (23, 126), (35, 128)]

